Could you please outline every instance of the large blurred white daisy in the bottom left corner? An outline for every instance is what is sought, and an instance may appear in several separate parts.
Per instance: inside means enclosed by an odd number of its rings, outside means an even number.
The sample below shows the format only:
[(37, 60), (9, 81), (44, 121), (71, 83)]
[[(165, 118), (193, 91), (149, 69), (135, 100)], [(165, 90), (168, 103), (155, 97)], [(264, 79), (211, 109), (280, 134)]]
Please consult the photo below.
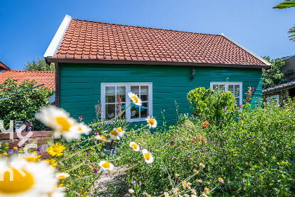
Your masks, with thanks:
[(50, 193), (58, 184), (54, 170), (46, 163), (28, 163), (13, 158), (11, 165), (6, 161), (0, 159), (3, 167), (0, 169), (1, 197), (40, 197)]

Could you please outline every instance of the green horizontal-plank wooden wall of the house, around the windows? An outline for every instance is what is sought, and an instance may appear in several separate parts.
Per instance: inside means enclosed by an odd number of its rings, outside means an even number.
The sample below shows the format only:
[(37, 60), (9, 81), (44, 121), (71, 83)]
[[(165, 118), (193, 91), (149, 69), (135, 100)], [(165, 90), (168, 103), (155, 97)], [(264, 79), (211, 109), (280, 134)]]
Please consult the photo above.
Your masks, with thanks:
[[(244, 98), (249, 86), (255, 87), (254, 98), (262, 98), (262, 71), (253, 68), (195, 67), (195, 79), (190, 80), (191, 67), (160, 65), (99, 65), (59, 64), (60, 108), (72, 117), (84, 117), (85, 122), (95, 118), (94, 106), (100, 101), (100, 83), (152, 82), (153, 115), (162, 124), (176, 122), (176, 104), (179, 113), (192, 113), (186, 96), (197, 87), (210, 87), (210, 82), (242, 82)], [(253, 103), (255, 101), (253, 100)], [(140, 125), (142, 122), (138, 122)]]

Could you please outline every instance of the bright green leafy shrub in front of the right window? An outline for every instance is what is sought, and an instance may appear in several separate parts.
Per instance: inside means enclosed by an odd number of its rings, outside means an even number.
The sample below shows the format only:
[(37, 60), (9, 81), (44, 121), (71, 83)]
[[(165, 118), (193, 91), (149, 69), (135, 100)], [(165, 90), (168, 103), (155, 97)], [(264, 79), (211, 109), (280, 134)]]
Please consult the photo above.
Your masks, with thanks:
[(199, 87), (188, 93), (188, 101), (193, 104), (193, 113), (206, 121), (219, 125), (232, 118), (236, 110), (235, 96), (230, 91)]

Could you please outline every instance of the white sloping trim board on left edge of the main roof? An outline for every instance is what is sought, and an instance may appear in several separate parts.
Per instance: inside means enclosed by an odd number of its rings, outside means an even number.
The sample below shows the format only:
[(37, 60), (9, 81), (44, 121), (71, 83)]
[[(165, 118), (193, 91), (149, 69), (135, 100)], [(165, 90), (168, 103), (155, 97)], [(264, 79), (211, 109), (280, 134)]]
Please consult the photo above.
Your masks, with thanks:
[(53, 37), (51, 44), (49, 44), (46, 52), (44, 53), (44, 58), (53, 58), (55, 56), (55, 53), (58, 51), (58, 48), (60, 47), (60, 43), (63, 40), (63, 35), (65, 34), (65, 31), (67, 30), (67, 27), (69, 26), (71, 20), (72, 17), (70, 15), (65, 15), (63, 23), (60, 24), (60, 27), (58, 28), (58, 31), (55, 33), (55, 36)]

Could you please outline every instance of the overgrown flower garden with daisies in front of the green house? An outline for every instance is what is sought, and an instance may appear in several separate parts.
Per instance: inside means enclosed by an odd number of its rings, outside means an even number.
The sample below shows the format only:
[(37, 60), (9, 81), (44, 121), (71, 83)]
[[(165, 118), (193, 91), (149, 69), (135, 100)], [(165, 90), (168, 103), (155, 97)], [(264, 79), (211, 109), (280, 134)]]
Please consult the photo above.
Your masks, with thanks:
[[(0, 196), (295, 196), (295, 102), (254, 106), (253, 91), (237, 106), (229, 91), (194, 89), (192, 114), (178, 114), (170, 127), (157, 117), (140, 128), (124, 117), (105, 121), (99, 105), (91, 125), (61, 108), (41, 108), (35, 117), (55, 138), (46, 142), (50, 157), (29, 148), (23, 160), (18, 148), (7, 153), (2, 144)], [(129, 97), (140, 106), (138, 96)], [(110, 172), (120, 184), (98, 189)]]

